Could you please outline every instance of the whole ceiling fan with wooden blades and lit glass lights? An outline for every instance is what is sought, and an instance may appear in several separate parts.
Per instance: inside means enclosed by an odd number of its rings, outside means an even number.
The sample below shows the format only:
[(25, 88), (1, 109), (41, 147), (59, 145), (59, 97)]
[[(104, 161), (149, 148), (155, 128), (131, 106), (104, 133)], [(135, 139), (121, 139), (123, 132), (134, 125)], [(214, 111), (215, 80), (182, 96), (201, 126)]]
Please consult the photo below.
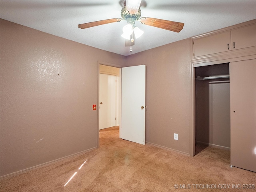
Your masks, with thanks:
[(132, 52), (132, 46), (134, 45), (134, 36), (139, 38), (144, 32), (135, 26), (135, 21), (140, 21), (142, 24), (158, 27), (174, 32), (180, 32), (183, 29), (184, 23), (168, 21), (163, 19), (156, 19), (150, 17), (141, 16), (141, 5), (142, 0), (121, 0), (121, 3), (124, 8), (121, 10), (121, 18), (113, 18), (100, 20), (90, 23), (79, 24), (78, 27), (81, 29), (90, 28), (98, 25), (127, 21), (127, 25), (123, 28), (122, 37), (126, 39), (125, 46), (130, 46), (130, 52)]

